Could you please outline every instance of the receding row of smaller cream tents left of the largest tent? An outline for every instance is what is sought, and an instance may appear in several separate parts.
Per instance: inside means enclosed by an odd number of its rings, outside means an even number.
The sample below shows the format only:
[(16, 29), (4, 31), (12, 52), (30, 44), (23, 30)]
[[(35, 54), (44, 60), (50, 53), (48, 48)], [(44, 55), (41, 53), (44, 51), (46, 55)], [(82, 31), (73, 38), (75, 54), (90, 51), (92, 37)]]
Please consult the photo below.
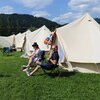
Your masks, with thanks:
[(44, 25), (33, 32), (27, 30), (24, 33), (18, 33), (17, 35), (8, 37), (0, 36), (0, 48), (15, 45), (17, 50), (24, 49), (25, 53), (28, 54), (30, 51), (33, 51), (32, 44), (37, 42), (41, 50), (49, 51), (50, 46), (45, 45), (43, 40), (51, 34), (51, 31)]

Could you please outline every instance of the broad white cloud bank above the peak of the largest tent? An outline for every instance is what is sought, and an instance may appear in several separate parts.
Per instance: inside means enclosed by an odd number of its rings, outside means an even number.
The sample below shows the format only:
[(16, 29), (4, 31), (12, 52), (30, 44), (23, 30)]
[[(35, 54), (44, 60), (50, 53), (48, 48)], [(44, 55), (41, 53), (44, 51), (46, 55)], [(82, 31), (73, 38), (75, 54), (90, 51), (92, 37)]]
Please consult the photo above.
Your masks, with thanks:
[(53, 18), (53, 21), (69, 23), (83, 16), (85, 13), (90, 15), (100, 14), (100, 0), (69, 0), (66, 7), (69, 12)]

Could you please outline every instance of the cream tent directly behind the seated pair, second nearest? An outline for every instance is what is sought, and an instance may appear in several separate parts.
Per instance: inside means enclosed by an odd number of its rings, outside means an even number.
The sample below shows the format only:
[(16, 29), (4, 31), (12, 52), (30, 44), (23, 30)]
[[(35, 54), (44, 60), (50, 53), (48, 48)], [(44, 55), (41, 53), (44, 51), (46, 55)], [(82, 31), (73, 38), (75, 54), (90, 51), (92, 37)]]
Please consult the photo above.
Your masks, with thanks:
[(33, 51), (32, 44), (37, 42), (39, 48), (41, 50), (49, 51), (50, 46), (44, 44), (44, 40), (51, 35), (50, 30), (44, 25), (41, 28), (31, 32), (30, 34), (26, 34), (26, 41), (24, 44), (24, 57), (25, 55), (29, 55), (30, 51)]

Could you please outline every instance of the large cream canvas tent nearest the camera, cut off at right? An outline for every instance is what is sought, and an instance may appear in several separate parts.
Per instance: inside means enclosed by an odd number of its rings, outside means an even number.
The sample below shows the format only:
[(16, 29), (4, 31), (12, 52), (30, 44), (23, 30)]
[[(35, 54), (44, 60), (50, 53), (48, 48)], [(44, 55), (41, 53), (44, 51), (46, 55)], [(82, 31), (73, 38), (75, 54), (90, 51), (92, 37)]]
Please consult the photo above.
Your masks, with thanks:
[(100, 73), (100, 25), (86, 14), (57, 28), (60, 63), (84, 73)]

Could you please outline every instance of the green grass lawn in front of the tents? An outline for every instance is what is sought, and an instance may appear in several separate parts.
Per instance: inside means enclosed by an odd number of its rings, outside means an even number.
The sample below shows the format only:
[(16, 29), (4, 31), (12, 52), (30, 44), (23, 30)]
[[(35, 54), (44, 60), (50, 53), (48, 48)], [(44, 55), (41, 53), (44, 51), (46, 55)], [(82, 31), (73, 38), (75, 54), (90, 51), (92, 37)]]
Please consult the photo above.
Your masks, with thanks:
[(39, 70), (27, 77), (21, 53), (0, 53), (0, 100), (100, 100), (100, 75), (62, 72), (46, 75)]

